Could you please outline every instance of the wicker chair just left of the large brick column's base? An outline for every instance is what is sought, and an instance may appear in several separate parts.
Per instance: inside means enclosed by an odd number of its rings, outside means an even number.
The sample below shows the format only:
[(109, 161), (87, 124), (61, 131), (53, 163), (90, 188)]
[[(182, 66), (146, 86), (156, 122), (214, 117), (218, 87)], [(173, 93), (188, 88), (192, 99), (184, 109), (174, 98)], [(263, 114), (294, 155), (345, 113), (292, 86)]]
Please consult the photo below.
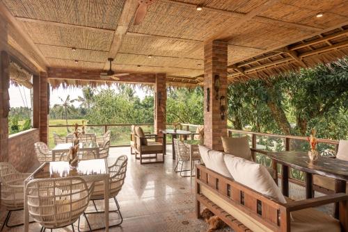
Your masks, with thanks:
[[(194, 167), (194, 163), (196, 160), (198, 160), (198, 162), (200, 162), (200, 154), (198, 149), (191, 151), (190, 148), (184, 144), (184, 142), (182, 142), (181, 140), (178, 139), (174, 139), (174, 149), (175, 149), (175, 154), (176, 154), (176, 158), (177, 158), (177, 163), (175, 165), (175, 172), (180, 172), (180, 176), (182, 177), (189, 177), (191, 176), (191, 174), (189, 175), (182, 175), (182, 172), (190, 172), (193, 170)], [(190, 154), (192, 152), (192, 158), (190, 160)], [(186, 169), (183, 170), (182, 166), (184, 165), (184, 162), (190, 162), (190, 169)], [(180, 171), (178, 171), (177, 167), (178, 165), (181, 163), (181, 169)]]

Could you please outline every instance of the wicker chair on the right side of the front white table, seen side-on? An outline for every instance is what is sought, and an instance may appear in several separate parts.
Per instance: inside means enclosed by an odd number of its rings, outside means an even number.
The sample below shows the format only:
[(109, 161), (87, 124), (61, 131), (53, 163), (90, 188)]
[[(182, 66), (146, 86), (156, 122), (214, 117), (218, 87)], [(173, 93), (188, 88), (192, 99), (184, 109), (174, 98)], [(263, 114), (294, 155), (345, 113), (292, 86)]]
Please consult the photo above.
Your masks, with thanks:
[[(120, 215), (120, 222), (117, 224), (111, 225), (112, 226), (119, 226), (123, 222), (123, 217), (120, 212), (120, 205), (118, 204), (118, 201), (116, 199), (118, 192), (120, 192), (123, 183), (125, 183), (125, 177), (126, 177), (126, 172), (127, 172), (127, 162), (128, 158), (127, 156), (119, 156), (113, 165), (109, 166), (109, 174), (110, 174), (110, 179), (109, 179), (109, 197), (113, 198), (116, 204), (116, 210), (109, 211), (109, 213), (118, 213)], [(95, 211), (93, 212), (86, 212), (85, 214), (94, 214), (94, 213), (104, 213), (104, 211), (99, 211), (97, 209), (97, 206), (95, 205), (95, 201), (97, 200), (104, 200), (104, 183), (102, 181), (96, 182), (95, 183), (95, 188), (93, 190), (92, 196), (90, 199), (93, 201), (93, 205), (95, 207)], [(86, 217), (87, 219), (87, 217)], [(79, 221), (80, 222), (80, 221)], [(98, 228), (98, 229), (93, 229), (94, 230), (99, 230), (99, 229), (104, 229), (105, 227)], [(80, 229), (79, 229), (80, 231)]]

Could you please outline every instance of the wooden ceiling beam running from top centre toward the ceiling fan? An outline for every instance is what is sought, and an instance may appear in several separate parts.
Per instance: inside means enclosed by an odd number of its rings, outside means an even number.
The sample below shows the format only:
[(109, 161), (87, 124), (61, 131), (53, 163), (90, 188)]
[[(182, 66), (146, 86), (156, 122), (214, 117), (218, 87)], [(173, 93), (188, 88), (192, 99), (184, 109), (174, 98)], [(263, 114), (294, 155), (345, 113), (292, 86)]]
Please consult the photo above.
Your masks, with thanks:
[[(109, 58), (116, 58), (116, 54), (121, 47), (123, 38), (128, 31), (128, 27), (136, 9), (138, 8), (139, 2), (137, 0), (125, 1), (125, 6), (123, 6), (120, 19), (118, 19), (118, 26), (116, 28), (115, 34), (113, 35), (113, 41), (108, 53)], [(106, 61), (104, 69), (109, 69), (109, 61)]]

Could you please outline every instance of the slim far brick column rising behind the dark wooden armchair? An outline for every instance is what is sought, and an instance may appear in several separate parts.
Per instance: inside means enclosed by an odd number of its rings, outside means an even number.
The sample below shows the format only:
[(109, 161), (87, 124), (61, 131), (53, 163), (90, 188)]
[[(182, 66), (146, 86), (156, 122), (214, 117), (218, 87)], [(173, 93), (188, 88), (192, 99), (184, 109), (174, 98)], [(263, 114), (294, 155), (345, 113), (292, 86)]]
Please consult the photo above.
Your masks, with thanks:
[(161, 130), (166, 129), (166, 74), (156, 74), (155, 76), (155, 129), (154, 132), (160, 137), (163, 135)]

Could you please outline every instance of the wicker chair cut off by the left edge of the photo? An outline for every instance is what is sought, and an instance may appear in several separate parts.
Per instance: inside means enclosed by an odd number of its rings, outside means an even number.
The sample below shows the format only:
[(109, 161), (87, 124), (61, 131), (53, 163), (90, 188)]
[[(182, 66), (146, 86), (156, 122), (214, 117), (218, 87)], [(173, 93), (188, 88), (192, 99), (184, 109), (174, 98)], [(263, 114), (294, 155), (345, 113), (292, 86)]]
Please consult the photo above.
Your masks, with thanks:
[(1, 204), (8, 210), (0, 231), (3, 230), (4, 226), (11, 228), (23, 225), (9, 225), (8, 222), (13, 211), (23, 210), (24, 208), (24, 180), (29, 175), (30, 173), (17, 172), (10, 163), (0, 163)]

